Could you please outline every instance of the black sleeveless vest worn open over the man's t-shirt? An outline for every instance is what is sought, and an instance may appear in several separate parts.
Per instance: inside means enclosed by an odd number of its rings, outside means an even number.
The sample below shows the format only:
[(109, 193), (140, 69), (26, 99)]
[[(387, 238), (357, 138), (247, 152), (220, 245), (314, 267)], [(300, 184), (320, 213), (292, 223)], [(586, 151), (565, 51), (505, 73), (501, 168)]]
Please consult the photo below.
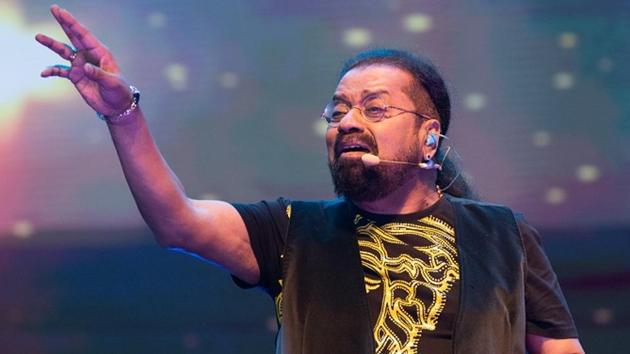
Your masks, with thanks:
[[(453, 353), (525, 353), (525, 254), (512, 211), (449, 197), (461, 275)], [(374, 353), (352, 206), (291, 203), (277, 353)]]

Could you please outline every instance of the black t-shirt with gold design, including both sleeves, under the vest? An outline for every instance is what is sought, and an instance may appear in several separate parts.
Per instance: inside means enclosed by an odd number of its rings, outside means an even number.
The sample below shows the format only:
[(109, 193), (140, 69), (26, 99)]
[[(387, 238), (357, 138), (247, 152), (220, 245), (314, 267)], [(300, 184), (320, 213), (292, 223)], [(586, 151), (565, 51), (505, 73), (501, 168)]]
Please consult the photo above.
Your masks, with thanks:
[[(260, 267), (258, 284), (282, 323), (282, 254), (291, 204), (284, 198), (233, 204), (247, 227)], [(450, 353), (459, 305), (454, 212), (448, 199), (404, 215), (354, 210), (376, 353)], [(519, 220), (527, 257), (527, 332), (577, 337), (564, 297), (536, 231)]]

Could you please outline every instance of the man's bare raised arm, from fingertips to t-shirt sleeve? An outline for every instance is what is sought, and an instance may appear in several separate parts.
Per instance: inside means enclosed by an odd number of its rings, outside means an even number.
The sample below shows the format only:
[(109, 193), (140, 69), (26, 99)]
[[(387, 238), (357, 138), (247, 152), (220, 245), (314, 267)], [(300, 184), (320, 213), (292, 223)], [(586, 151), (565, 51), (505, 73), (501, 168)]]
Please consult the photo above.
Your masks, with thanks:
[[(72, 46), (44, 34), (35, 38), (70, 63), (49, 67), (41, 76), (67, 78), (85, 102), (106, 117), (127, 111), (133, 95), (111, 52), (68, 11), (53, 5), (51, 13)], [(136, 205), (157, 242), (197, 254), (256, 283), (259, 268), (240, 215), (228, 203), (186, 196), (140, 107), (124, 119), (108, 119), (107, 126)]]

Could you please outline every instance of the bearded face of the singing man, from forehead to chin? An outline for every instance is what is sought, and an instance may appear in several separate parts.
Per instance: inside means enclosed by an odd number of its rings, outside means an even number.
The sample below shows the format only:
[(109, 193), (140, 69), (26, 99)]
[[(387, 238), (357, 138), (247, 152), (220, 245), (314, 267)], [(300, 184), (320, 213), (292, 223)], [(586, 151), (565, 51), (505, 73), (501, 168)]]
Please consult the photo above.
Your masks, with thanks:
[[(412, 80), (407, 71), (390, 65), (358, 67), (339, 81), (334, 100), (361, 108), (377, 104), (416, 111), (408, 94)], [(335, 192), (355, 202), (372, 202), (394, 192), (409, 178), (417, 178), (414, 166), (380, 164), (367, 168), (361, 161), (363, 154), (371, 153), (381, 160), (420, 162), (417, 119), (414, 114), (402, 113), (370, 122), (358, 109), (352, 109), (338, 127), (328, 128), (328, 165)], [(362, 149), (353, 149), (357, 144)]]

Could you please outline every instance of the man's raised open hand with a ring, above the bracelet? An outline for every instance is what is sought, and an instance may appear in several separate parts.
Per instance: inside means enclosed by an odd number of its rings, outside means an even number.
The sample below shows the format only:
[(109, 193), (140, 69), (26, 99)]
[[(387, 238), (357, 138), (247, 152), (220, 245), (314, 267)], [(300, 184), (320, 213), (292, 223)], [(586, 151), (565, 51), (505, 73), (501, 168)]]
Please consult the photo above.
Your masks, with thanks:
[(42, 71), (42, 77), (58, 76), (69, 79), (85, 102), (96, 112), (116, 116), (131, 105), (129, 84), (120, 75), (114, 57), (87, 28), (70, 12), (53, 5), (50, 12), (74, 46), (37, 34), (35, 39), (60, 57), (70, 61), (70, 66), (55, 65)]

